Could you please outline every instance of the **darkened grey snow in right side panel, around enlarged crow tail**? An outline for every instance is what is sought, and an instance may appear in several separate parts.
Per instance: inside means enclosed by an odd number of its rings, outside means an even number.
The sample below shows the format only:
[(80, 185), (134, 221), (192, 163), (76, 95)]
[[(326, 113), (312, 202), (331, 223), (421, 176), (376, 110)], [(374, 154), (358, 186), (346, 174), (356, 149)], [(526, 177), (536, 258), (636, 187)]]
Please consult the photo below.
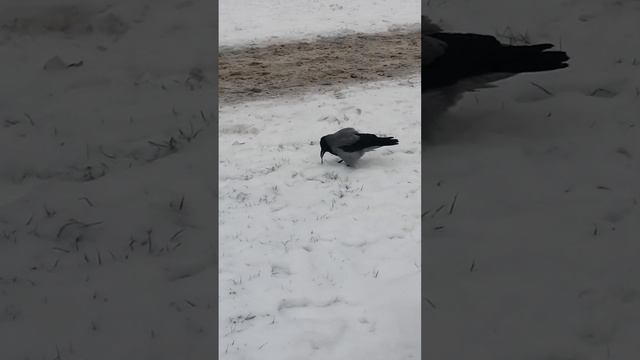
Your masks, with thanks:
[(571, 60), (467, 94), (423, 149), (423, 356), (637, 358), (640, 1), (429, 4)]

